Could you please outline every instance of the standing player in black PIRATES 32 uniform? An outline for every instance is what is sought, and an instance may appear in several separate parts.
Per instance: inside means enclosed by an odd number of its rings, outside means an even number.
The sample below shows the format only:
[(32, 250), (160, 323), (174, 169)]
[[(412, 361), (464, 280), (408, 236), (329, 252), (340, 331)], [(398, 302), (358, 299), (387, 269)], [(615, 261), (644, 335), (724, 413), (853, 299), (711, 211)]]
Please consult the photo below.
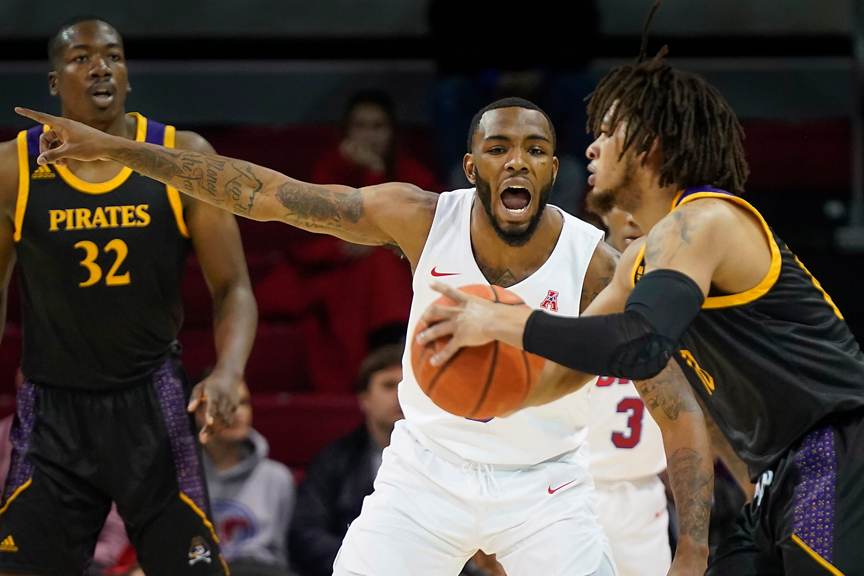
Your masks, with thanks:
[[(105, 22), (67, 22), (49, 56), (64, 117), (213, 152), (194, 133), (125, 113), (123, 41)], [(238, 403), (257, 312), (237, 224), (115, 161), (40, 166), (44, 130), (0, 144), (3, 311), (17, 261), (27, 379), (10, 434), (0, 573), (82, 573), (113, 501), (148, 576), (225, 574), (188, 410), (207, 403), (206, 440)], [(175, 339), (190, 248), (213, 293), (218, 357), (194, 391)]]

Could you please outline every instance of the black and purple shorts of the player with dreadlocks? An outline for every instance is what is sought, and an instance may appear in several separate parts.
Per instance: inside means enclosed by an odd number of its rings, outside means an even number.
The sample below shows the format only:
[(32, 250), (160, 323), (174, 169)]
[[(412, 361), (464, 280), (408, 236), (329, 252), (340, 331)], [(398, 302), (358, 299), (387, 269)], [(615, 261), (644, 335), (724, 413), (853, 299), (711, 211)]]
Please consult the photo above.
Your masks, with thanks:
[(708, 576), (864, 573), (864, 412), (812, 430), (756, 485)]

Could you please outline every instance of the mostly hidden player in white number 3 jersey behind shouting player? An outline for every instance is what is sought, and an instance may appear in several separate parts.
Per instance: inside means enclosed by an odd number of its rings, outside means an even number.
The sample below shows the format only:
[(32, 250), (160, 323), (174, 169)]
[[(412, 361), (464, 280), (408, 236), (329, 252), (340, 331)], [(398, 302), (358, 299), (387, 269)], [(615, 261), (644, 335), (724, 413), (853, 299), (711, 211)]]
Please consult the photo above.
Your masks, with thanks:
[[(630, 214), (588, 194), (588, 210), (603, 220), (607, 243), (623, 252), (642, 231)], [(663, 435), (629, 380), (600, 377), (591, 388), (588, 445), (597, 516), (620, 576), (665, 576), (672, 561)]]

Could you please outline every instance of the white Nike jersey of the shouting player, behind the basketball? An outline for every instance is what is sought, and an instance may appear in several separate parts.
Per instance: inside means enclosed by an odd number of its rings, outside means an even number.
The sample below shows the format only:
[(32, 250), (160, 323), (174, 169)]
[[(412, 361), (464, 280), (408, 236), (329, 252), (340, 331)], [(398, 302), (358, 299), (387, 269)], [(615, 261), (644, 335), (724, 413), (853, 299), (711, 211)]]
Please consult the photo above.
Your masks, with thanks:
[[(441, 296), (429, 288), (431, 282), (444, 282), (455, 288), (489, 284), (474, 260), (471, 247), (474, 197), (474, 189), (469, 188), (442, 193), (438, 199), (429, 239), (414, 272), (409, 337), (422, 313)], [(543, 307), (550, 313), (578, 316), (582, 280), (603, 233), (560, 212), (564, 224), (549, 259), (537, 272), (507, 289), (532, 308)], [(403, 358), (399, 402), (406, 425), (422, 445), (429, 447), (431, 440), (462, 459), (492, 465), (530, 466), (573, 451), (585, 441), (591, 384), (556, 402), (525, 408), (506, 418), (473, 421), (438, 408), (423, 394), (414, 377), (410, 354), (408, 345)], [(433, 447), (429, 449), (435, 451)]]

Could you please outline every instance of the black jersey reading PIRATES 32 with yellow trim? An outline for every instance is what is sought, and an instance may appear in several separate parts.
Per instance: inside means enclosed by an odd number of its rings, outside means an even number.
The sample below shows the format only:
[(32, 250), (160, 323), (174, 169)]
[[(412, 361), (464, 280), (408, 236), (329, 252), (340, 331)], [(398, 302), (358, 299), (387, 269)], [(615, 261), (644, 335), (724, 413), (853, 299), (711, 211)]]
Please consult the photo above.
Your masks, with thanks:
[[(175, 129), (137, 113), (139, 142)], [(18, 134), (15, 240), (24, 377), (78, 389), (143, 382), (175, 346), (189, 250), (180, 193), (123, 168), (98, 184), (39, 166), (36, 126)]]

